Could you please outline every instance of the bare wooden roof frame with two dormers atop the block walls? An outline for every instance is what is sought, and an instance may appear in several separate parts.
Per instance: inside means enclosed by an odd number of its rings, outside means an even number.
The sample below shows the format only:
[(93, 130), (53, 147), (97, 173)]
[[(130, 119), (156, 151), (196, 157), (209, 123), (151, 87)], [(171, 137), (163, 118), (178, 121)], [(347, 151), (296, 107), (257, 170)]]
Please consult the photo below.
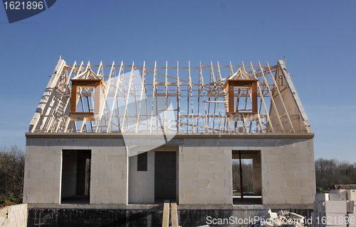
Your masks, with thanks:
[[(101, 79), (100, 113), (70, 117), (70, 79)], [(246, 81), (244, 81), (246, 80)], [(255, 83), (255, 92), (250, 85)], [(230, 85), (229, 85), (230, 82)], [(233, 86), (232, 84), (238, 84)], [(239, 85), (240, 84), (240, 85)], [(241, 84), (244, 84), (242, 86)], [(247, 85), (246, 85), (247, 84)], [(77, 112), (93, 112), (80, 88)], [(234, 94), (231, 94), (234, 93)], [(234, 105), (234, 112), (229, 105)], [(257, 109), (257, 111), (256, 111)], [(283, 61), (270, 66), (66, 65), (60, 60), (30, 123), (32, 133), (309, 133)]]

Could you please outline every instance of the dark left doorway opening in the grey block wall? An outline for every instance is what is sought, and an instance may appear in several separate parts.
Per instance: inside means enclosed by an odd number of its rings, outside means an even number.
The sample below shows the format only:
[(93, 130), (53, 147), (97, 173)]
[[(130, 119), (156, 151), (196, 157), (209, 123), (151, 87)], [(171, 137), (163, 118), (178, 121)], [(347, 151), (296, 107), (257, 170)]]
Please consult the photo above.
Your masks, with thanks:
[(91, 150), (62, 151), (61, 204), (89, 204)]

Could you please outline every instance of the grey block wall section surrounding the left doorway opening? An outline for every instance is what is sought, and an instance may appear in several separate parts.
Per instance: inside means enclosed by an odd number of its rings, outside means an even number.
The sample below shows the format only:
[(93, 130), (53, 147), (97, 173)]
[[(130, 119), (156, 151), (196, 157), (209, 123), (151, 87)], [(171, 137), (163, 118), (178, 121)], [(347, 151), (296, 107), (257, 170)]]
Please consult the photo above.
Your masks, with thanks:
[(28, 138), (23, 203), (60, 204), (62, 150), (91, 150), (90, 204), (127, 203), (122, 139)]

